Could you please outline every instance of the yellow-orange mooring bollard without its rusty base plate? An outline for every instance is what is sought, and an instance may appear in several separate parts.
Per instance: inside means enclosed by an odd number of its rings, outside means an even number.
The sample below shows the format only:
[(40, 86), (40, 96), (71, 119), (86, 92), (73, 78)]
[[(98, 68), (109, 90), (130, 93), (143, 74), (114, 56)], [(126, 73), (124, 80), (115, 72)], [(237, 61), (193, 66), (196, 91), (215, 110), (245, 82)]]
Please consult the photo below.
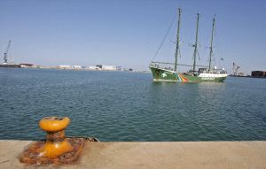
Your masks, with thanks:
[(65, 136), (65, 128), (69, 123), (70, 119), (67, 117), (46, 117), (40, 120), (39, 126), (47, 135), (45, 144), (38, 150), (39, 156), (54, 158), (73, 150)]

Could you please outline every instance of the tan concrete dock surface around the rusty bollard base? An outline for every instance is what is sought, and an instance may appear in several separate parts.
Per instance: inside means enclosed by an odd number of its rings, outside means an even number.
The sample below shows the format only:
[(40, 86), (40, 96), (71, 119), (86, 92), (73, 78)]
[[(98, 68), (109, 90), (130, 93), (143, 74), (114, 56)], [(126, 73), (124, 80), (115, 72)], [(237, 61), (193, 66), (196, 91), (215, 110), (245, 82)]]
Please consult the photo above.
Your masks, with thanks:
[(87, 142), (71, 165), (24, 165), (29, 141), (0, 141), (0, 168), (266, 169), (266, 142)]

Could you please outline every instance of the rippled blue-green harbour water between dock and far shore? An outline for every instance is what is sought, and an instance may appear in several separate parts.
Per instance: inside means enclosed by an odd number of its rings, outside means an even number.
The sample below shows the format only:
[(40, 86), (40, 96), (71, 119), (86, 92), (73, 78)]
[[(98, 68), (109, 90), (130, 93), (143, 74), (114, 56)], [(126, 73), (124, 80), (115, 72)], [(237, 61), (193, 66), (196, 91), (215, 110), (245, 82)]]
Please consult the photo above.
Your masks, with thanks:
[(100, 141), (266, 140), (266, 80), (152, 82), (151, 74), (0, 69), (0, 139), (38, 140), (38, 121)]

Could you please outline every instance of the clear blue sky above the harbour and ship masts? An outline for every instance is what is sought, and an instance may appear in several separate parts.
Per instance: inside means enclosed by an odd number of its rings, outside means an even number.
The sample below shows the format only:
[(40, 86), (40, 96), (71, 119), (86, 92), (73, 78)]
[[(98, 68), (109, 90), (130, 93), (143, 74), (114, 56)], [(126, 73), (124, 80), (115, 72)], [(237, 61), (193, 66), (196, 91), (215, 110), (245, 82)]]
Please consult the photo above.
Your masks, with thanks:
[[(95, 0), (0, 1), (0, 50), (12, 40), (11, 58), (35, 65), (121, 65), (148, 70), (178, 7), (183, 9), (181, 63), (192, 63), (196, 13), (200, 12), (200, 64), (207, 62), (216, 14), (215, 65), (266, 71), (266, 1)], [(176, 26), (176, 25), (175, 25)], [(162, 56), (169, 61), (176, 28)], [(173, 48), (172, 48), (173, 47)], [(161, 58), (160, 58), (161, 57)], [(224, 58), (223, 63), (218, 63)], [(216, 63), (217, 62), (217, 63)]]

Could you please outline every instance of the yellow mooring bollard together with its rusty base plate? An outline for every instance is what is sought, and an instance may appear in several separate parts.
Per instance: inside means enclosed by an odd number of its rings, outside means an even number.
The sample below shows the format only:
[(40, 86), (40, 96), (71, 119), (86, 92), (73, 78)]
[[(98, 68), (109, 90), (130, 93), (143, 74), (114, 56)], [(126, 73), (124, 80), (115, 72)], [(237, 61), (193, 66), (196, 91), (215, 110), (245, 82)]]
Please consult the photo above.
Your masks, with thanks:
[(91, 137), (66, 137), (67, 117), (46, 117), (39, 126), (47, 133), (45, 142), (32, 142), (20, 154), (20, 162), (28, 165), (70, 164), (82, 154), (85, 142), (98, 142)]

